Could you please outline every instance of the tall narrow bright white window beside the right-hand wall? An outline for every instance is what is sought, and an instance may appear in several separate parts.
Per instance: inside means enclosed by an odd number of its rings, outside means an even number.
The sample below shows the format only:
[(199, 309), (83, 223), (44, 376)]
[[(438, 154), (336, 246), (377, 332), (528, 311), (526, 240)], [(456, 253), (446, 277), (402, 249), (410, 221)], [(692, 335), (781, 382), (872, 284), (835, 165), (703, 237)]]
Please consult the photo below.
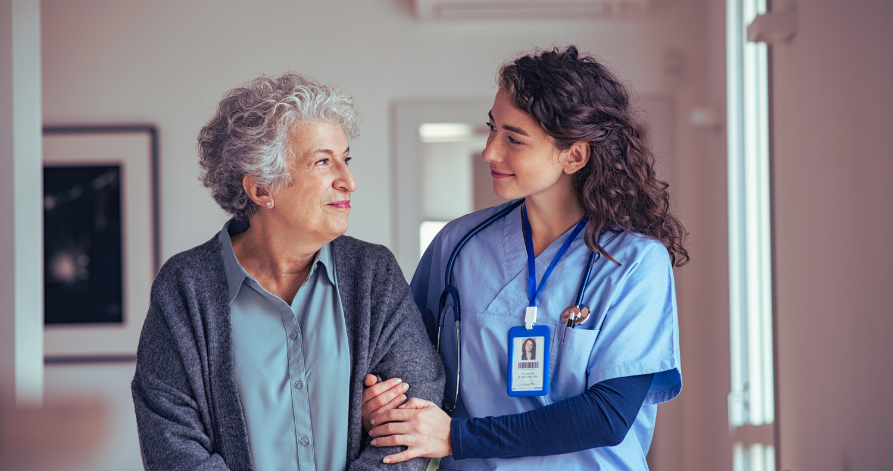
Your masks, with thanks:
[(729, 427), (735, 471), (774, 471), (768, 53), (747, 42), (765, 0), (727, 0)]

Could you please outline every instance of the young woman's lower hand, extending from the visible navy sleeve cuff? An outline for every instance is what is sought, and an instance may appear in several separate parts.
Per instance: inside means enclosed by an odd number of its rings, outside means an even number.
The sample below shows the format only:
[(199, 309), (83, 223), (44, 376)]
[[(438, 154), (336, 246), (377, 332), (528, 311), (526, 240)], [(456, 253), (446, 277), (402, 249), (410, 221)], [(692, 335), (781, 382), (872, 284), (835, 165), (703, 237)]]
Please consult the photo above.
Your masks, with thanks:
[(450, 445), (450, 416), (437, 404), (412, 398), (406, 404), (376, 414), (369, 431), (373, 446), (408, 447), (385, 456), (385, 463), (399, 463), (419, 456), (442, 458), (453, 453)]

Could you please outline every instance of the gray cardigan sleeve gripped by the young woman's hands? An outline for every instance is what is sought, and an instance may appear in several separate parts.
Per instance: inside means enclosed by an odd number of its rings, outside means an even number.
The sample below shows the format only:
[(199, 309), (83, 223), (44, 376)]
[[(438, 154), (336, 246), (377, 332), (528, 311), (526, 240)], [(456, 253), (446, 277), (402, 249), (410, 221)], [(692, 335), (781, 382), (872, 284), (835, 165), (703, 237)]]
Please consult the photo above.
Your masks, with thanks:
[[(370, 293), (374, 352), (368, 373), (385, 379), (400, 378), (410, 385), (407, 397), (426, 399), (440, 405), (444, 388), (440, 357), (428, 339), (422, 316), (396, 259), (387, 249), (383, 249), (383, 252), (386, 263), (373, 276)], [(428, 465), (428, 458), (384, 464), (382, 459), (385, 456), (399, 453), (405, 448), (378, 448), (369, 445), (369, 441), (363, 431), (364, 448), (359, 458), (350, 464), (351, 470), (424, 470)]]

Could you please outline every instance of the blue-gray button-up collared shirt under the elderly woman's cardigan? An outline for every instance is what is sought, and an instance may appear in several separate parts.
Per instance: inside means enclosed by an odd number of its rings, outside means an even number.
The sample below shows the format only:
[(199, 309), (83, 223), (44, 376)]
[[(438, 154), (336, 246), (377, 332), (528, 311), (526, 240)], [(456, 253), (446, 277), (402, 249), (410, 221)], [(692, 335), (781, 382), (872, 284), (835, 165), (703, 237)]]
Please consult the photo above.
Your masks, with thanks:
[(316, 255), (291, 305), (252, 278), (220, 231), (229, 287), (236, 384), (258, 470), (329, 470), (347, 465), (350, 352), (331, 246)]

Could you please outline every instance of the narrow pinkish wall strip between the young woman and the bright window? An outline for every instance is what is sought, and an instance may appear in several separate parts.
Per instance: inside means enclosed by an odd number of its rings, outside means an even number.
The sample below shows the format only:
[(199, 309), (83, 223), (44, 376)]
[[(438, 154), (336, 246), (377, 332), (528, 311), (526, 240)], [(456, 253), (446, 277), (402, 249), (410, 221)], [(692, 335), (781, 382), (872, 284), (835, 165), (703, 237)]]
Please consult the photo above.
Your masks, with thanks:
[[(688, 19), (699, 50), (688, 58), (702, 70), (693, 104), (725, 116), (725, 8), (709, 1)], [(694, 25), (703, 25), (697, 27)], [(695, 53), (694, 51), (698, 51)], [(692, 129), (684, 106), (671, 195), (689, 232), (691, 262), (676, 270), (682, 352), (682, 394), (658, 408), (654, 471), (731, 470), (727, 395), (730, 389), (726, 134)], [(683, 142), (685, 144), (685, 142)]]

